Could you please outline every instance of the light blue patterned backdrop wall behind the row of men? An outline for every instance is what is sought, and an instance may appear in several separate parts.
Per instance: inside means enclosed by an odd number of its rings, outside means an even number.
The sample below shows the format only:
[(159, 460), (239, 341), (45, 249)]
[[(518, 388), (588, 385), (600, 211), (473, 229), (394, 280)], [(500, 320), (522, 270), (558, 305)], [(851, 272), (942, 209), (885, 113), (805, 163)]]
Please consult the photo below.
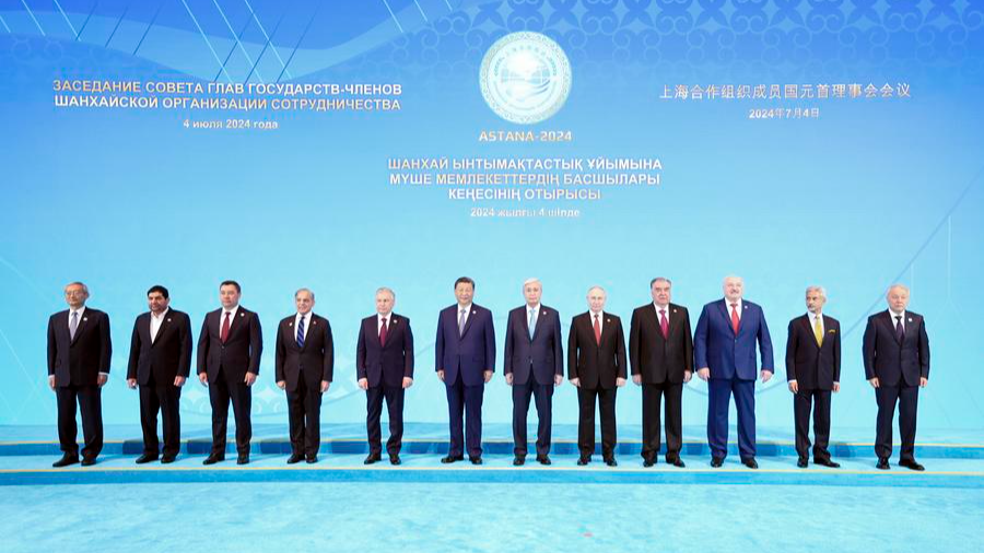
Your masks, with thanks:
[[(550, 36), (572, 66), (566, 104), (532, 127), (500, 119), (479, 87), (485, 51), (514, 31)], [(83, 80), (386, 83), (401, 94), (398, 110), (56, 105), (58, 82)], [(73, 280), (110, 315), (109, 423), (138, 421), (124, 378), (147, 289), (168, 286), (197, 336), (223, 279), (243, 284), (243, 305), (265, 327), (256, 421), (285, 422), (272, 344), (300, 286), (316, 292), (315, 310), (335, 330), (323, 417), (364, 419), (358, 322), (387, 285), (417, 338), (407, 419), (442, 422), (433, 343), (455, 278), (476, 279), (501, 352), (506, 313), (522, 304), (528, 276), (542, 280), (543, 303), (561, 311), (566, 333), (593, 284), (608, 290), (608, 310), (628, 328), (631, 309), (649, 301), (649, 279), (668, 276), (695, 325), (735, 273), (764, 307), (776, 344), (778, 378), (758, 389), (760, 425), (792, 428), (786, 323), (816, 283), (844, 329), (833, 424), (874, 433), (862, 332), (901, 281), (933, 349), (921, 425), (981, 427), (982, 84), (981, 2), (0, 0), (0, 424), (54, 424), (45, 329)], [(723, 97), (729, 85), (778, 85), (782, 97)], [(845, 97), (818, 97), (835, 85)], [(679, 87), (686, 99), (673, 97)], [(809, 115), (796, 117), (797, 108)], [(229, 119), (277, 129), (184, 125)], [(483, 130), (528, 128), (572, 140), (479, 140)], [(442, 156), (643, 157), (664, 169), (656, 187), (532, 203), (578, 209), (578, 217), (472, 217), (472, 207), (516, 205), (389, 181), (390, 160)], [(511, 416), (501, 368), (500, 358), (487, 421)], [(637, 388), (620, 392), (620, 422), (637, 424), (640, 404)], [(554, 420), (574, 423), (576, 405), (565, 384)], [(703, 383), (688, 386), (683, 409), (684, 424), (704, 423)], [(183, 410), (186, 421), (207, 422), (204, 388), (189, 383)]]

